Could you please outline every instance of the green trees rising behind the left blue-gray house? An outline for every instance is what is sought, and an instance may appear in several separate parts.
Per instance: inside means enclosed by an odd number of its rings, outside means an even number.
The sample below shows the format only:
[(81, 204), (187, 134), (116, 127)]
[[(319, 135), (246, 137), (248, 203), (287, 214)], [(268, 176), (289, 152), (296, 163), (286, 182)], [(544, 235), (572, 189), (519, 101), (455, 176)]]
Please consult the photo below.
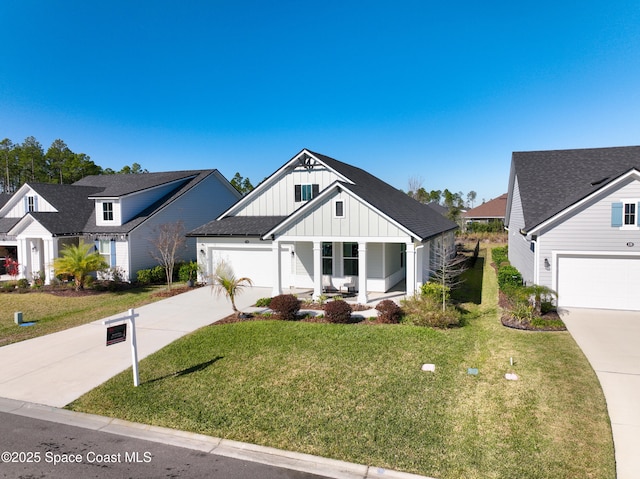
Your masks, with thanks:
[(0, 141), (0, 192), (13, 193), (24, 183), (71, 184), (88, 175), (148, 173), (140, 164), (120, 171), (96, 165), (86, 153), (75, 153), (67, 144), (54, 140), (45, 151), (33, 136), (22, 143), (9, 138)]

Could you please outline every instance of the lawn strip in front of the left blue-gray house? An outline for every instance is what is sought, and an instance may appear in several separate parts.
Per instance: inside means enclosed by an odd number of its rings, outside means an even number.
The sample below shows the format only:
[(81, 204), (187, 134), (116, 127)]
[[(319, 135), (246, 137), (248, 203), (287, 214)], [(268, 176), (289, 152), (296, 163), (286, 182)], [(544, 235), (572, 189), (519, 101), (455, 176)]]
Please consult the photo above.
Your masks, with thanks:
[[(112, 316), (129, 308), (157, 301), (153, 294), (166, 286), (148, 286), (121, 292), (70, 297), (46, 292), (0, 294), (0, 346), (62, 331)], [(22, 311), (24, 327), (14, 322), (14, 312)]]

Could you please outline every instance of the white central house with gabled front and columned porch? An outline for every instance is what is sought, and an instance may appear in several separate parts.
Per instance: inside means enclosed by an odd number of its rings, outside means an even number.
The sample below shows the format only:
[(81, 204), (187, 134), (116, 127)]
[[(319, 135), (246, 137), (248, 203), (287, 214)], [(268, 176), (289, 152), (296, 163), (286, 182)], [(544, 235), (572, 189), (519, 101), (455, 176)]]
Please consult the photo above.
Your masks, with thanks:
[(366, 171), (304, 149), (188, 236), (197, 238), (205, 275), (224, 259), (274, 295), (350, 287), (364, 303), (368, 292), (402, 281), (413, 294), (429, 277), (434, 248), (455, 251), (456, 228)]

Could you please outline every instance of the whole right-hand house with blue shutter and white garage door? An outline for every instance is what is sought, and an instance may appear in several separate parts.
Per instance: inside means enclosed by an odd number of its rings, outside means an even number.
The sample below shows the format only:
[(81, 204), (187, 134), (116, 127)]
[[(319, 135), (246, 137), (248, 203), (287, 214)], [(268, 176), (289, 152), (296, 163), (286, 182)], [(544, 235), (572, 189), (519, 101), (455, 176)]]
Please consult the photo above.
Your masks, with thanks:
[(640, 146), (513, 153), (506, 226), (559, 306), (640, 310)]

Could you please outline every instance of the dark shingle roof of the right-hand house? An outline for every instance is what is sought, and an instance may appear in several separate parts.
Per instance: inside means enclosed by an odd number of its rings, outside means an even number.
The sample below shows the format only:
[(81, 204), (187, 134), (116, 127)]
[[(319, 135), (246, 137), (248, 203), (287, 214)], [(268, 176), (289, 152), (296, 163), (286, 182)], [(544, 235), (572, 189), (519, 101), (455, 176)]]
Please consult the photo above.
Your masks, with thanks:
[(511, 165), (527, 231), (631, 169), (640, 171), (640, 146), (514, 152)]

